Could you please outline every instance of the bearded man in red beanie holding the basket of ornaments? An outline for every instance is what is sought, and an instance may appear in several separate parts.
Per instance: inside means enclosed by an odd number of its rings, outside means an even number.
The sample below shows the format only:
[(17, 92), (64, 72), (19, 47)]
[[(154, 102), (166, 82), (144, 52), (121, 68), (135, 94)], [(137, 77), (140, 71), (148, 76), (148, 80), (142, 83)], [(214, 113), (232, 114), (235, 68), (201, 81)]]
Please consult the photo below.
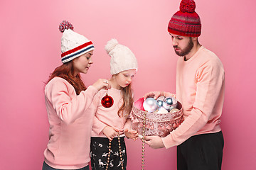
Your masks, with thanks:
[(221, 169), (225, 77), (223, 64), (198, 42), (201, 20), (193, 0), (182, 0), (180, 11), (171, 17), (168, 32), (178, 56), (176, 94), (151, 91), (148, 97), (174, 96), (183, 106), (184, 121), (166, 137), (146, 136), (152, 148), (177, 146), (177, 169)]

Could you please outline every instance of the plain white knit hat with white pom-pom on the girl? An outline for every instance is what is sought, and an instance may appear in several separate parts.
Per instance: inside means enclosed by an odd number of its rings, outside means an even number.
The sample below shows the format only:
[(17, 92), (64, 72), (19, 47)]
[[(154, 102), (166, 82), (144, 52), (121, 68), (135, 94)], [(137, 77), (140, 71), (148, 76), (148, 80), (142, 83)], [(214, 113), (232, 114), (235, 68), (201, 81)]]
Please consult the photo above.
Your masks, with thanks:
[(128, 69), (138, 69), (137, 59), (128, 47), (120, 45), (116, 39), (111, 39), (105, 46), (110, 55), (110, 73), (117, 74)]

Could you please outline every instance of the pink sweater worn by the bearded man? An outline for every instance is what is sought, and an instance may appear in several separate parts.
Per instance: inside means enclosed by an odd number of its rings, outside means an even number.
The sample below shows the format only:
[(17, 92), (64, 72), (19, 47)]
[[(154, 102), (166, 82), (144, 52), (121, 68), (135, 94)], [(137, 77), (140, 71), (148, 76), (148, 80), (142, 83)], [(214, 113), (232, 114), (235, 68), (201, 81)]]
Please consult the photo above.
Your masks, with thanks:
[(166, 148), (180, 145), (193, 135), (219, 132), (225, 78), (218, 57), (200, 47), (193, 57), (179, 57), (176, 69), (176, 98), (183, 105), (184, 121), (163, 137)]

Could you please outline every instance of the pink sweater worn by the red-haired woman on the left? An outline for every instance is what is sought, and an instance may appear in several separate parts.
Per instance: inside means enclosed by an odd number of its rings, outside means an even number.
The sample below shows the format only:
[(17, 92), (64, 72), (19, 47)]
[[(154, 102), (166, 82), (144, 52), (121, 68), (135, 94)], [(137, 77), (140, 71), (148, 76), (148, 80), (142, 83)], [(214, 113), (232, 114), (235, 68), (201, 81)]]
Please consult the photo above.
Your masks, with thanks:
[(80, 169), (90, 162), (92, 113), (85, 110), (97, 93), (94, 86), (81, 91), (65, 79), (55, 77), (45, 89), (46, 109), (50, 124), (45, 162), (55, 169)]

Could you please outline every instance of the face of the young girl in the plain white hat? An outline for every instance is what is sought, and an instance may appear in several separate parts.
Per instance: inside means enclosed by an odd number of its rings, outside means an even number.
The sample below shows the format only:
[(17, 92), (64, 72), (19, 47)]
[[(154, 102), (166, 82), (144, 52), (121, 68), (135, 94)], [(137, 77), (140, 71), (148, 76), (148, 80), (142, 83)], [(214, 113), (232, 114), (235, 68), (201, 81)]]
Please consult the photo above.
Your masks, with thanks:
[(136, 69), (128, 69), (123, 72), (119, 72), (114, 76), (116, 89), (121, 89), (132, 83), (132, 77), (136, 74)]

